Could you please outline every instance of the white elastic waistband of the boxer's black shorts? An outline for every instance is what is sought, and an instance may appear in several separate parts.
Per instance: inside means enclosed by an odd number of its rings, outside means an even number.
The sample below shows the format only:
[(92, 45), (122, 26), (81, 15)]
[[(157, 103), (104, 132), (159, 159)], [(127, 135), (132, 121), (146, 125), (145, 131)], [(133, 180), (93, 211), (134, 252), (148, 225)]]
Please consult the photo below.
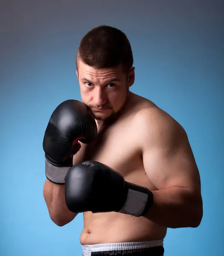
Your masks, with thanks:
[(115, 244), (90, 244), (82, 245), (83, 256), (91, 256), (91, 252), (104, 252), (111, 250), (135, 250), (144, 249), (156, 246), (163, 246), (162, 240), (155, 241), (141, 241), (141, 242), (129, 242), (129, 243), (115, 243)]

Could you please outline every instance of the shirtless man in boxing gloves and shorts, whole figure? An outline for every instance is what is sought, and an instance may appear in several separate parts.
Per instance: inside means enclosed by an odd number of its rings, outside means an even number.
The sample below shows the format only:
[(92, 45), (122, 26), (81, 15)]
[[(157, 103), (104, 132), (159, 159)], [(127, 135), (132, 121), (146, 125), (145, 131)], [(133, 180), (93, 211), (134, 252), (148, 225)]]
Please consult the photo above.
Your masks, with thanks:
[(153, 102), (130, 92), (132, 65), (123, 32), (109, 26), (89, 31), (77, 52), (82, 102), (63, 102), (45, 132), (48, 212), (58, 226), (83, 212), (84, 256), (123, 250), (162, 256), (167, 228), (198, 227), (203, 215), (187, 134)]

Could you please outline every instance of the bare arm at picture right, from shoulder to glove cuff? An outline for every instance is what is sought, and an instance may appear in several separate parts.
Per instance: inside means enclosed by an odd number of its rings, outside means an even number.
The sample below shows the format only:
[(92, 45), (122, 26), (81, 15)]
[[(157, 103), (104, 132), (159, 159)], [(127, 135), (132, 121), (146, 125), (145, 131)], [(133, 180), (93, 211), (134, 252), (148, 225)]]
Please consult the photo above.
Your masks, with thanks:
[(201, 183), (187, 134), (157, 110), (142, 122), (143, 163), (157, 188), (145, 217), (164, 227), (198, 227), (203, 215)]

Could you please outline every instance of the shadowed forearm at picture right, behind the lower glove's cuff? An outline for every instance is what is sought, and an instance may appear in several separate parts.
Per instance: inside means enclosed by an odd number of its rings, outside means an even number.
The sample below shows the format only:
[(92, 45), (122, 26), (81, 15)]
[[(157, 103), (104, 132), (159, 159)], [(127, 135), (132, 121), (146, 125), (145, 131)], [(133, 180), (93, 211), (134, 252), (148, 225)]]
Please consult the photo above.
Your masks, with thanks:
[(202, 218), (201, 197), (196, 199), (187, 188), (153, 191), (153, 205), (145, 218), (164, 227), (198, 227)]

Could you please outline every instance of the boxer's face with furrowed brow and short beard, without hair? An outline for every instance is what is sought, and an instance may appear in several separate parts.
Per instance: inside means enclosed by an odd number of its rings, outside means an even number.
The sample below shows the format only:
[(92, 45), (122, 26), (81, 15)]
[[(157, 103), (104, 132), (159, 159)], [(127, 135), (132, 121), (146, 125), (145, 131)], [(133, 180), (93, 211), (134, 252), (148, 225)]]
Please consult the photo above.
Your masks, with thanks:
[(125, 73), (120, 65), (95, 69), (79, 60), (77, 78), (82, 102), (91, 108), (96, 120), (105, 120), (125, 104), (134, 83), (134, 67)]

